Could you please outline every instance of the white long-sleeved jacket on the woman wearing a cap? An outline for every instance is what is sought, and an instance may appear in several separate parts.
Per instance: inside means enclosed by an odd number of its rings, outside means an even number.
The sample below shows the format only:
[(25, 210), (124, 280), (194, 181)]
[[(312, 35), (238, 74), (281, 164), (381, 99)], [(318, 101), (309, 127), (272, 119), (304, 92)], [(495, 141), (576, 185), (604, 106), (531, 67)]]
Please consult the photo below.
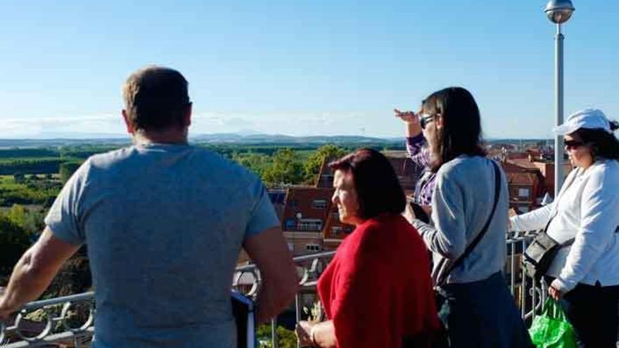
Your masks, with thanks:
[(598, 160), (587, 170), (567, 177), (557, 199), (527, 214), (511, 218), (513, 231), (534, 231), (552, 220), (547, 233), (571, 247), (557, 252), (548, 276), (562, 293), (577, 283), (619, 285), (619, 162)]

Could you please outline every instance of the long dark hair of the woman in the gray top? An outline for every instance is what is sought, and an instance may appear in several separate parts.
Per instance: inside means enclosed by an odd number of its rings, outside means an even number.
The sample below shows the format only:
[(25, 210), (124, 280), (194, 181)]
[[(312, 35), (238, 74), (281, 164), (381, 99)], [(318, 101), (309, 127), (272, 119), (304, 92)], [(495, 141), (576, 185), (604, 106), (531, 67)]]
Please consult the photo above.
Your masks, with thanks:
[(466, 89), (449, 87), (436, 91), (423, 101), (422, 108), (430, 115), (442, 116), (437, 146), (430, 149), (435, 157), (430, 163), (433, 172), (459, 155), (486, 155), (482, 146), (479, 108)]

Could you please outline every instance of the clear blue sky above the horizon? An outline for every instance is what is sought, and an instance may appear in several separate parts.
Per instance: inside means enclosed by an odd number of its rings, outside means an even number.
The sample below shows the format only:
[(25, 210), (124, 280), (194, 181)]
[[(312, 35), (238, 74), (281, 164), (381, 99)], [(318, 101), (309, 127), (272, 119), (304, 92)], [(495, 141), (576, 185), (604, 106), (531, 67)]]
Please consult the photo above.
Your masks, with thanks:
[[(128, 3), (131, 4), (128, 4)], [(193, 134), (400, 136), (393, 108), (465, 86), (487, 137), (550, 136), (545, 1), (0, 2), (0, 138), (122, 134), (133, 70), (184, 73)], [(574, 0), (566, 114), (619, 119), (618, 1)]]

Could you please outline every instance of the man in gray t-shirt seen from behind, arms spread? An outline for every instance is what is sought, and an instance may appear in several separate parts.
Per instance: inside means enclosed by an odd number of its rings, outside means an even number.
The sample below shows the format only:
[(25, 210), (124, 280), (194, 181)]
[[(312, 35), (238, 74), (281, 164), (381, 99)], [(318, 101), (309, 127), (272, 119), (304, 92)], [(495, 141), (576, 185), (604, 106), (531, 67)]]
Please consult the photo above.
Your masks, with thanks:
[(258, 320), (288, 304), (295, 269), (264, 186), (187, 144), (186, 85), (162, 67), (129, 77), (123, 115), (135, 145), (90, 157), (66, 183), (0, 297), (0, 318), (38, 297), (84, 243), (96, 348), (236, 347), (230, 286), (241, 246), (264, 281)]

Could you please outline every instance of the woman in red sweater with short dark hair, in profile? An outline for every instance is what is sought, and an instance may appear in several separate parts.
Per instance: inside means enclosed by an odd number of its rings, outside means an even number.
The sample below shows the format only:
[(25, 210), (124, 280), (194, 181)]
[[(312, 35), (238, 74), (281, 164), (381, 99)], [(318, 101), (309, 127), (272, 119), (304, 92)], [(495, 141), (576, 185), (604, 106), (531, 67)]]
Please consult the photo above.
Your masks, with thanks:
[(302, 346), (426, 347), (440, 324), (428, 251), (400, 215), (406, 200), (385, 156), (361, 149), (330, 164), (333, 204), (355, 225), (318, 281), (329, 318), (302, 321)]

